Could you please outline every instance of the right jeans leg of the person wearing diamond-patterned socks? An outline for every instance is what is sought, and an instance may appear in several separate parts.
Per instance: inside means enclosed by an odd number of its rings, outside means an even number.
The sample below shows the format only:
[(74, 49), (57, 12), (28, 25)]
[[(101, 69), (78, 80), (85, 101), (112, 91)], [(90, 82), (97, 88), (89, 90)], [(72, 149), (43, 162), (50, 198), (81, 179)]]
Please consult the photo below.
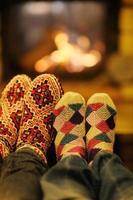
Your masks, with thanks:
[(92, 166), (93, 187), (100, 200), (133, 200), (133, 174), (115, 154), (99, 152)]

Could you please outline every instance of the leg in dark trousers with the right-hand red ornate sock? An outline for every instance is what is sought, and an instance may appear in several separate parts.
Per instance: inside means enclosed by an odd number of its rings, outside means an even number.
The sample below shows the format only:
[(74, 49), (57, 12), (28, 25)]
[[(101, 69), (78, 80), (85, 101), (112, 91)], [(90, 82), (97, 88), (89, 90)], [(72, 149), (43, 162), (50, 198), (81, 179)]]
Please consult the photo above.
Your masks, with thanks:
[(30, 85), (24, 96), (16, 152), (3, 162), (1, 200), (42, 197), (39, 180), (46, 170), (43, 163), (53, 139), (51, 115), (61, 95), (61, 85), (54, 75), (40, 75)]

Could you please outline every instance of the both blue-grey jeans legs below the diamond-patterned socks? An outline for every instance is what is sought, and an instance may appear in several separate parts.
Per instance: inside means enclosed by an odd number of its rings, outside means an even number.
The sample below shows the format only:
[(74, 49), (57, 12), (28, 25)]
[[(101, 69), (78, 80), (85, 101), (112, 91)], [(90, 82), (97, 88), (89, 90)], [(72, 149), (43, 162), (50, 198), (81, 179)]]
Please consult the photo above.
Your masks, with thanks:
[(133, 200), (133, 174), (115, 154), (99, 152), (91, 168), (69, 156), (41, 179), (45, 200)]

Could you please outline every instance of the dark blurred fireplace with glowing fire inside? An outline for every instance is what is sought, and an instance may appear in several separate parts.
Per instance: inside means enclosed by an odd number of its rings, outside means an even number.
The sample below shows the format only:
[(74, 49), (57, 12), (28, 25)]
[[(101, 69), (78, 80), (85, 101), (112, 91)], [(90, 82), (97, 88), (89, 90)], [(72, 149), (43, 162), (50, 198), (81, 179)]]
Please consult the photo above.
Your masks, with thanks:
[(2, 13), (5, 77), (48, 72), (88, 79), (104, 70), (109, 6), (106, 1), (9, 5)]

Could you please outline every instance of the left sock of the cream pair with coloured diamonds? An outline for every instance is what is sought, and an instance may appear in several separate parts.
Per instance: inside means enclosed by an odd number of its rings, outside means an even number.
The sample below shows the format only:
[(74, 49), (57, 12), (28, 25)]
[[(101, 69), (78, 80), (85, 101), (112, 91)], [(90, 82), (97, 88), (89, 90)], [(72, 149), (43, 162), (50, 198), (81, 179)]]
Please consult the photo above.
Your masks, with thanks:
[(54, 110), (53, 126), (57, 131), (55, 148), (57, 160), (69, 155), (84, 157), (85, 101), (74, 92), (67, 92)]

